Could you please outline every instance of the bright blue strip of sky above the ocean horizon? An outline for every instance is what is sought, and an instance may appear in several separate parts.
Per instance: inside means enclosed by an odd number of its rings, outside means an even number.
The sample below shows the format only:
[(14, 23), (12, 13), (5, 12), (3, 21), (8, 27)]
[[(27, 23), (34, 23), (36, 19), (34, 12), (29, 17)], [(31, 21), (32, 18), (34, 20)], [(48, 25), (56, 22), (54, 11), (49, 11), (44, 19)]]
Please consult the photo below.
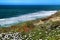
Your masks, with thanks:
[(60, 5), (60, 0), (0, 0), (0, 5)]

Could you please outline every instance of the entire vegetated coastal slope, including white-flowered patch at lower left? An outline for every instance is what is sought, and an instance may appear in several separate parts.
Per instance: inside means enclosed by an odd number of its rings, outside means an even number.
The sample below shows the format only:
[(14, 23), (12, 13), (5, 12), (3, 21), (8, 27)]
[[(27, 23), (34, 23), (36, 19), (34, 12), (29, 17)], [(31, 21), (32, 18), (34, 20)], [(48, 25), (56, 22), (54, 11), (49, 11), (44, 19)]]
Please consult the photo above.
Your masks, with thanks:
[[(9, 37), (8, 37), (9, 36)], [(42, 19), (0, 28), (4, 40), (60, 40), (60, 12)]]

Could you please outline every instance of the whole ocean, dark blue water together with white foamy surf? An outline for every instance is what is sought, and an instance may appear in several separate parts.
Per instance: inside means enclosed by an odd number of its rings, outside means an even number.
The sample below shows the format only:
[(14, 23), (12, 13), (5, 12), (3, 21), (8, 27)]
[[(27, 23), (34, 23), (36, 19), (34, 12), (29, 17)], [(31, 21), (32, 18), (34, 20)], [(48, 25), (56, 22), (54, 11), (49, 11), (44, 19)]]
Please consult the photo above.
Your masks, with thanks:
[(50, 16), (60, 5), (0, 5), (0, 25), (10, 25)]

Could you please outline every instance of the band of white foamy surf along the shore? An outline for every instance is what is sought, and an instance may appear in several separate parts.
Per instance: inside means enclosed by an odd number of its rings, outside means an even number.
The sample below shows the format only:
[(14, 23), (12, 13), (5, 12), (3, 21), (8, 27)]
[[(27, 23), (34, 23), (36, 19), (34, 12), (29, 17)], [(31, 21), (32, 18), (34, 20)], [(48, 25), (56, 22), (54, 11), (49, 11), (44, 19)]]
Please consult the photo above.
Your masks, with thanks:
[(4, 19), (0, 19), (0, 25), (3, 26), (3, 25), (10, 25), (18, 22), (28, 21), (28, 20), (35, 20), (36, 18), (50, 16), (56, 12), (57, 11), (39, 11), (35, 13), (21, 15), (18, 17), (4, 18)]

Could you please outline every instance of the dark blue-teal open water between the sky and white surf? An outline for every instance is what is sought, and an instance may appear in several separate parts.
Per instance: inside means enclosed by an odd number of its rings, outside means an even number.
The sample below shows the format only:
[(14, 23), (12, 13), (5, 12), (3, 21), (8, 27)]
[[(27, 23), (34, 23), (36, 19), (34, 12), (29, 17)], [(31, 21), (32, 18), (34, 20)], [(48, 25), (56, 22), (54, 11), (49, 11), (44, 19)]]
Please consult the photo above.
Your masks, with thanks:
[(51, 10), (60, 10), (60, 5), (0, 5), (0, 19)]

